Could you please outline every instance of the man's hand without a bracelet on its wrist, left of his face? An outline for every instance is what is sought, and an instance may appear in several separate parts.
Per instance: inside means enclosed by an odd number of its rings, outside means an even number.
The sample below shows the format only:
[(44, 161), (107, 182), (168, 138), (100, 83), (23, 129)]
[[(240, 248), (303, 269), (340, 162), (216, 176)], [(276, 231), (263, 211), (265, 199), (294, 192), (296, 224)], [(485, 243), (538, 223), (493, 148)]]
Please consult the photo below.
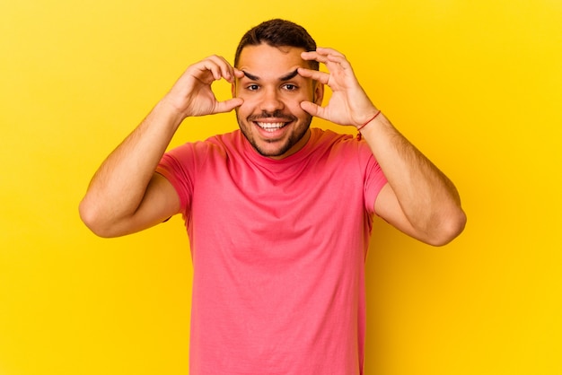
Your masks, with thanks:
[(233, 68), (224, 57), (207, 57), (190, 65), (162, 101), (177, 110), (181, 118), (230, 112), (241, 106), (244, 100), (216, 100), (211, 85), (221, 79), (234, 83), (236, 77), (242, 76), (243, 73)]

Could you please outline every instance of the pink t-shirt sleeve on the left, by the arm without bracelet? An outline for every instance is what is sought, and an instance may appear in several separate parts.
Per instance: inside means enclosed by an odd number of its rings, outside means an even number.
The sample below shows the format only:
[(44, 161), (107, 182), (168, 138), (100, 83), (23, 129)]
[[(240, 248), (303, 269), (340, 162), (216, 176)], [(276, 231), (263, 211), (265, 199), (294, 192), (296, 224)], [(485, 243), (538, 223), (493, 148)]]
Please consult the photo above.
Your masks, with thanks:
[(192, 144), (183, 144), (162, 156), (156, 167), (160, 173), (170, 181), (180, 197), (181, 213), (187, 214), (193, 194), (193, 170), (195, 168), (195, 153)]

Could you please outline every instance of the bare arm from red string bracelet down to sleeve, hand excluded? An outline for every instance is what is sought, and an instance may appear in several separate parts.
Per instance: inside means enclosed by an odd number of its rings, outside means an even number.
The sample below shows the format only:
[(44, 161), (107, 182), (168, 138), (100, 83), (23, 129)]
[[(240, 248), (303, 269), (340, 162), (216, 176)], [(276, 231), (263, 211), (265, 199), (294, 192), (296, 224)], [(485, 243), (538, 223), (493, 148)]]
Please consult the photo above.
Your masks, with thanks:
[(451, 180), (383, 115), (360, 131), (389, 181), (377, 197), (375, 212), (431, 245), (441, 246), (457, 237), (466, 216)]

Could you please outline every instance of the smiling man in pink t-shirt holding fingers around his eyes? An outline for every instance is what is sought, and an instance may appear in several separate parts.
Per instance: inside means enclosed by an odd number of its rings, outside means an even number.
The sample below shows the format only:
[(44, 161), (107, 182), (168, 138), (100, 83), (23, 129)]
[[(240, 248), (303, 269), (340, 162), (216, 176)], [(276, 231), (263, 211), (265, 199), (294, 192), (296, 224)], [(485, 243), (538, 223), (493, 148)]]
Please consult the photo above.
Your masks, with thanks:
[[(215, 99), (221, 79), (233, 99)], [(239, 131), (165, 153), (184, 119), (233, 109)], [(363, 140), (311, 129), (312, 117)], [(466, 220), (451, 181), (375, 108), (346, 57), (282, 20), (248, 31), (233, 66), (189, 66), (103, 162), (80, 213), (102, 237), (183, 214), (192, 375), (362, 373), (373, 214), (435, 246)]]

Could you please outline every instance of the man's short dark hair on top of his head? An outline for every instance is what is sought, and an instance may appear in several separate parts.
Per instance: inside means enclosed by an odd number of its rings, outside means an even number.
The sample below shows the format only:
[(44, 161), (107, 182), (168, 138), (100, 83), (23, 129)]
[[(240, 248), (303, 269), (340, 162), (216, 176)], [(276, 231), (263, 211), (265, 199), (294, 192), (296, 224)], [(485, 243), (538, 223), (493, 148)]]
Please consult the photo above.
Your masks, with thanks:
[[(305, 51), (315, 51), (316, 42), (303, 26), (294, 22), (275, 19), (261, 22), (258, 26), (247, 31), (241, 38), (236, 55), (234, 56), (234, 66), (238, 65), (240, 54), (246, 46), (259, 46), (262, 43), (271, 47), (294, 47), (303, 48)], [(312, 69), (318, 70), (318, 61), (309, 61)]]

